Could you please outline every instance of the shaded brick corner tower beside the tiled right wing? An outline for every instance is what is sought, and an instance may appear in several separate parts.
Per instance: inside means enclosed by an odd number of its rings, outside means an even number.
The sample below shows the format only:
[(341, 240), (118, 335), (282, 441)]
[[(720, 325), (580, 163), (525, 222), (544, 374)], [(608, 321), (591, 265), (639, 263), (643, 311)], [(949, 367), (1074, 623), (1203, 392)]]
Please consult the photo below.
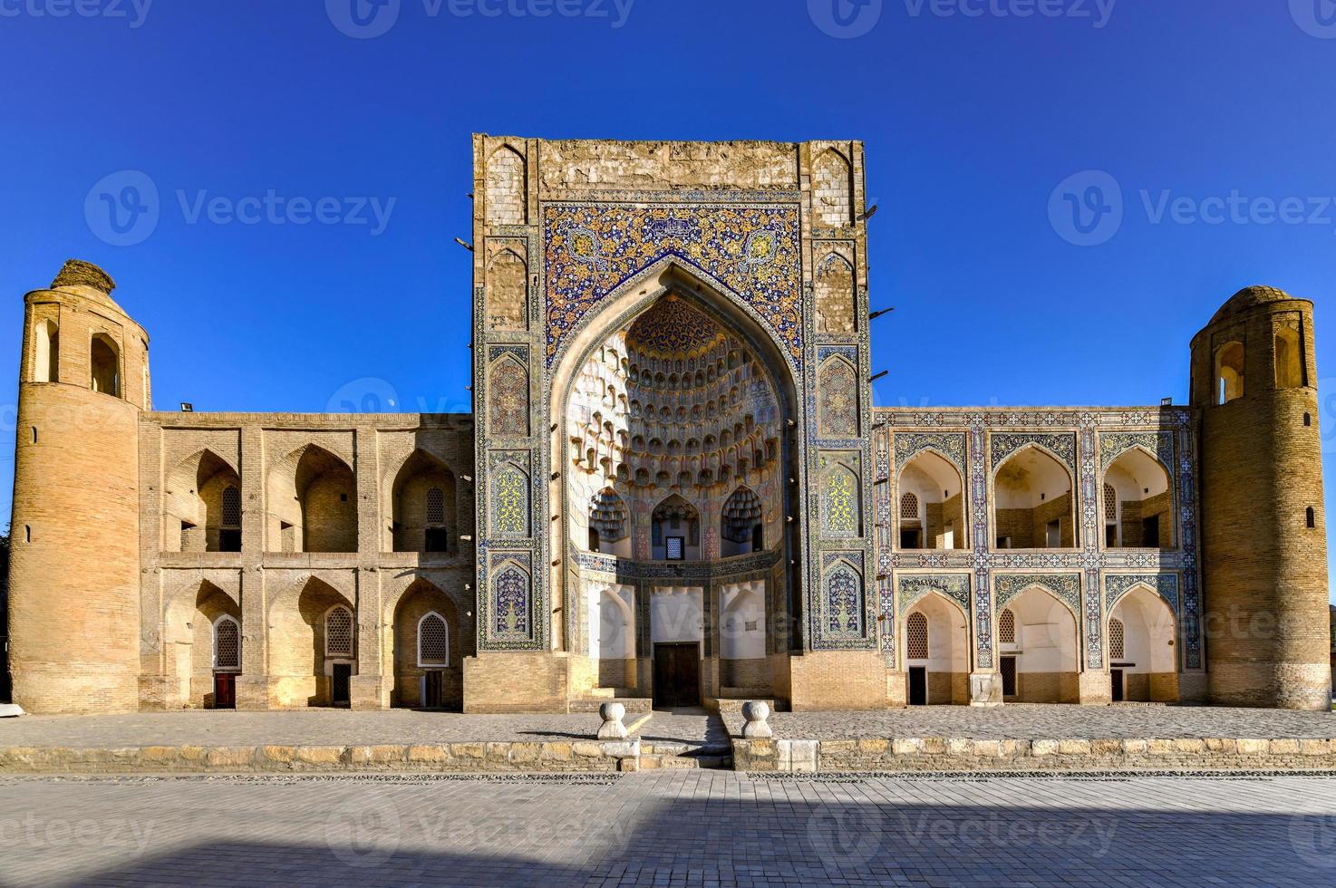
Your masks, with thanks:
[(1210, 698), (1328, 709), (1327, 537), (1313, 303), (1229, 299), (1192, 341)]

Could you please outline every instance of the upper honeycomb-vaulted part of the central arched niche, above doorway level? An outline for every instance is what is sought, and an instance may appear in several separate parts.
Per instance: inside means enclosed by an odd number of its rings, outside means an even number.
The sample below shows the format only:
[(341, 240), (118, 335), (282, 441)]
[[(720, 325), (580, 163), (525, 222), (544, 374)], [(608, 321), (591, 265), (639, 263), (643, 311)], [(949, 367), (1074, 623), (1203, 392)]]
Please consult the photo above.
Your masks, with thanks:
[[(788, 421), (802, 419), (794, 370), (783, 342), (744, 306), (661, 260), (584, 316), (552, 374), (549, 495), (565, 518), (552, 522), (553, 553), (592, 547), (592, 531), (601, 554), (639, 561), (667, 560), (668, 537), (681, 538), (687, 562), (755, 554), (758, 542), (779, 558), (798, 538), (783, 519), (803, 511), (792, 502), (802, 490), (787, 481), (802, 446), (788, 433)], [(609, 546), (619, 506), (627, 542)], [(564, 574), (582, 570), (553, 569), (553, 597), (566, 594)]]

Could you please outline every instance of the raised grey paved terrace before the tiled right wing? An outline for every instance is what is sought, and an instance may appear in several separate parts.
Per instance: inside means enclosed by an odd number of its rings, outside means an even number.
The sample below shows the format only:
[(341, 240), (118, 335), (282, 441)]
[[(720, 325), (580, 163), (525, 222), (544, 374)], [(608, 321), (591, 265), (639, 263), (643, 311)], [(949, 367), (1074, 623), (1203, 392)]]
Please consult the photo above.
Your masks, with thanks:
[[(739, 722), (740, 724), (740, 720)], [(1336, 737), (1336, 713), (1225, 706), (1062, 706), (1007, 704), (997, 708), (915, 706), (883, 712), (780, 712), (770, 717), (776, 737)], [(729, 717), (729, 728), (736, 724)]]

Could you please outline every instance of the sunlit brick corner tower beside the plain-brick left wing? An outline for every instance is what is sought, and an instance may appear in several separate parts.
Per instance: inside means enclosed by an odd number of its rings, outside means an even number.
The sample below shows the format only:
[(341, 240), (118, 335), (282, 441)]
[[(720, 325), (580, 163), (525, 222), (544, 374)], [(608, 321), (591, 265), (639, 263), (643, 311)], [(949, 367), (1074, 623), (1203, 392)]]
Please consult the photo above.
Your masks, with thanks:
[(28, 712), (139, 705), (139, 414), (148, 337), (115, 283), (71, 260), (29, 292), (9, 564), (13, 700)]

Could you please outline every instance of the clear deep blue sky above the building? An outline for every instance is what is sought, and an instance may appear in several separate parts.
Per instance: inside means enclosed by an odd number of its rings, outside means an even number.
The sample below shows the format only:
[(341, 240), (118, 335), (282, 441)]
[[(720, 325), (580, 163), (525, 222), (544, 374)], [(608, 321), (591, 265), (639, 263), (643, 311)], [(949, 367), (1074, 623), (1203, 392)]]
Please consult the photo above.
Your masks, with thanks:
[[(373, 39), (337, 27), (357, 31), (351, 0), (77, 3), (104, 15), (0, 0), (4, 515), (21, 295), (67, 256), (106, 267), (148, 328), (162, 407), (321, 411), (393, 391), (406, 410), (466, 410), (469, 254), (453, 238), (469, 236), (474, 131), (864, 140), (872, 303), (899, 308), (876, 322), (882, 405), (1182, 403), (1188, 341), (1252, 283), (1317, 303), (1320, 373), (1336, 374), (1332, 0), (839, 0), (843, 33), (871, 25), (858, 37), (827, 33), (832, 0), (398, 0)], [(1018, 15), (1033, 8), (1061, 15)], [(361, 11), (370, 29), (390, 20)], [(159, 190), (160, 218), (111, 246), (84, 204), (126, 170)], [(1082, 171), (1124, 196), (1097, 246), (1050, 220)], [(339, 212), (395, 203), (373, 234), (191, 222), (178, 198), (271, 190)], [(1166, 192), (1208, 216), (1237, 192), (1246, 212), (1176, 222), (1153, 212)], [(1320, 220), (1263, 224), (1256, 200), (1284, 198), (1324, 202)]]

